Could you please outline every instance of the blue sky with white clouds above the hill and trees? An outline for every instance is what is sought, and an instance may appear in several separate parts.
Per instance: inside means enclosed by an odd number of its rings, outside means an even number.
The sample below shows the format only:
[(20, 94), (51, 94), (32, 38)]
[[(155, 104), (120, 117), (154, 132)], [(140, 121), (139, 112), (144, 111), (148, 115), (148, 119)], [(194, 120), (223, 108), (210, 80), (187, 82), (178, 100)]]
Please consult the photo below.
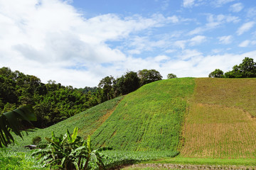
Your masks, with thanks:
[(256, 60), (255, 0), (0, 0), (0, 67), (43, 83), (208, 77), (245, 57)]

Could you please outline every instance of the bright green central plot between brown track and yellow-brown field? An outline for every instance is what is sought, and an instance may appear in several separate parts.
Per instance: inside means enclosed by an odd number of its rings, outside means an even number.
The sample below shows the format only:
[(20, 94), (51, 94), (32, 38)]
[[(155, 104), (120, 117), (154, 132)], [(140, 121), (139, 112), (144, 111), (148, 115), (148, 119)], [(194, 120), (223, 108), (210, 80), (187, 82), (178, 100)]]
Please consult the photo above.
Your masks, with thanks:
[(146, 84), (125, 96), (92, 135), (101, 147), (129, 151), (170, 151), (178, 148), (186, 98), (194, 79), (168, 79)]

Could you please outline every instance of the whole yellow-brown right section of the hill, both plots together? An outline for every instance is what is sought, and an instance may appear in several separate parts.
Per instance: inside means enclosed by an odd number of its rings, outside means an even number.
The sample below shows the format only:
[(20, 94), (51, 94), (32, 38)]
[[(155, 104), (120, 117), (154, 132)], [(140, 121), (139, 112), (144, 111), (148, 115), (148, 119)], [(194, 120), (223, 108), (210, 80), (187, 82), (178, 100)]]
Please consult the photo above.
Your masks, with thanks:
[(183, 157), (256, 158), (256, 79), (196, 79)]

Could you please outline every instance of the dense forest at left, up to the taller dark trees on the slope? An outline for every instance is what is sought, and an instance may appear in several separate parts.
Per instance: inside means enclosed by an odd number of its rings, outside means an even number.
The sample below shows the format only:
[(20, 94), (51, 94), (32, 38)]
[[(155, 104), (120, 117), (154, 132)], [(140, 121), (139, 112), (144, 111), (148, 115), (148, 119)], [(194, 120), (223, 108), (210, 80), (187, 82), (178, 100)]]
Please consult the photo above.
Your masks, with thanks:
[(51, 80), (43, 84), (35, 76), (0, 68), (0, 113), (31, 104), (38, 118), (33, 123), (37, 128), (46, 128), (96, 106), (102, 102), (99, 91), (88, 87), (73, 89)]

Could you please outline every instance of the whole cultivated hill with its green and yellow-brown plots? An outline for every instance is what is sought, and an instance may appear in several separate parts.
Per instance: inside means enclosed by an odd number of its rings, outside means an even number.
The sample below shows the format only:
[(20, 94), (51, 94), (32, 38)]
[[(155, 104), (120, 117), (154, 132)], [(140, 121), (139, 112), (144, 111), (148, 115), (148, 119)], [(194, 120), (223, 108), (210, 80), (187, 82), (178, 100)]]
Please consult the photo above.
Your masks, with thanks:
[(113, 147), (110, 156), (137, 153), (149, 159), (149, 152), (160, 158), (179, 151), (166, 162), (255, 165), (255, 87), (256, 79), (155, 81), (17, 140), (28, 145), (33, 137), (77, 126), (78, 135), (92, 135), (93, 145)]

